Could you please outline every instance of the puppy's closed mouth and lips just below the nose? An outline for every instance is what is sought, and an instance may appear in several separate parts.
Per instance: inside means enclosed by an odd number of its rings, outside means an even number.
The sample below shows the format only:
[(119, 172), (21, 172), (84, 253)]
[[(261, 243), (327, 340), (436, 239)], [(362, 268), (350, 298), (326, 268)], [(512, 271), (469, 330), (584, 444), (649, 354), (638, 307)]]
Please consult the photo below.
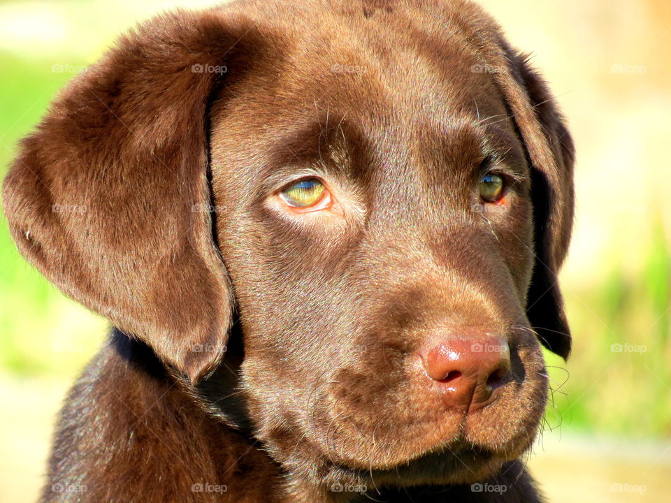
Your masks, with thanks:
[(370, 421), (370, 414), (361, 422), (355, 418), (325, 421), (331, 425), (331, 435), (322, 435), (329, 440), (322, 444), (322, 452), (335, 465), (380, 476), (391, 473), (396, 478), (400, 474), (413, 479), (415, 472), (430, 474), (430, 479), (434, 472), (468, 475), (475, 471), (472, 467), (489, 465), (491, 460), (517, 457), (535, 437), (542, 409), (512, 416), (511, 409), (528, 409), (531, 400), (517, 400), (514, 384), (500, 391), (500, 401), (475, 411), (441, 409), (433, 403), (427, 407), (408, 400), (394, 416), (398, 424)]

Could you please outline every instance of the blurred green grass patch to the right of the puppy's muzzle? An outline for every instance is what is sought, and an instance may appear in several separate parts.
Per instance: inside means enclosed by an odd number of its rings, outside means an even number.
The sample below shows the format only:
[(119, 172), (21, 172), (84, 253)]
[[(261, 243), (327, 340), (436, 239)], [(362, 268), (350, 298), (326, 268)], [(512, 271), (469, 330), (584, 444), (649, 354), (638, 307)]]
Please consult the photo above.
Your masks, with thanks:
[(629, 438), (671, 437), (671, 256), (661, 239), (647, 247), (640, 277), (611, 269), (596, 286), (564, 288), (574, 347), (568, 364), (547, 356), (557, 390), (549, 421)]

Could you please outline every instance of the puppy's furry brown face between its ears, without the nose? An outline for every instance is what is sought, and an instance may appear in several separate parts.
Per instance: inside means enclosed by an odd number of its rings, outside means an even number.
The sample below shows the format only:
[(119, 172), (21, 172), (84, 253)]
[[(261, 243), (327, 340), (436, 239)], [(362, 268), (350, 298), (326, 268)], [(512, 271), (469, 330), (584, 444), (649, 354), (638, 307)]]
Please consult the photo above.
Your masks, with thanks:
[[(542, 414), (547, 382), (525, 316), (524, 148), (491, 76), (471, 71), (477, 60), (459, 42), (449, 48), (449, 66), (407, 73), (398, 50), (387, 62), (398, 70), (370, 59), (352, 75), (298, 50), (277, 79), (282, 98), (252, 70), (213, 108), (218, 242), (251, 416), (277, 458), (301, 469), (468, 480), (483, 462), (517, 458)], [(313, 75), (292, 83), (288, 68), (306, 66)], [(504, 184), (494, 201), (481, 194), (490, 173)], [(467, 414), (444, 403), (448, 385), (423, 359), (484, 335), (507, 342), (511, 373), (495, 401)], [(436, 451), (441, 462), (396, 474)], [(463, 451), (462, 464), (453, 453)]]

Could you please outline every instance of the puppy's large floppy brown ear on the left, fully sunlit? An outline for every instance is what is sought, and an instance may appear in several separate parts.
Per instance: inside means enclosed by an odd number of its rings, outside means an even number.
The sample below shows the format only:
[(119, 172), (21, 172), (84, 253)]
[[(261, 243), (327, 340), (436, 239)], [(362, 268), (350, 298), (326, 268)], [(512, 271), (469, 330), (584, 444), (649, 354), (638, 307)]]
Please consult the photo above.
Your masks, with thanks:
[(257, 38), (217, 10), (141, 25), (59, 94), (4, 182), (22, 254), (192, 382), (225, 351), (233, 304), (212, 237), (208, 103)]

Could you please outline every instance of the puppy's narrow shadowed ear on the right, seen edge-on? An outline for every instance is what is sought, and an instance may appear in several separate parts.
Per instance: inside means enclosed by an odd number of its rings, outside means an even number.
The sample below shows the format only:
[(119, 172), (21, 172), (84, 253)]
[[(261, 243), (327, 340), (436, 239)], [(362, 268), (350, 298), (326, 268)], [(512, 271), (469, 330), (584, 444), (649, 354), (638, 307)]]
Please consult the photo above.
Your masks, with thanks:
[[(568, 252), (573, 225), (573, 140), (544, 80), (528, 57), (499, 38), (494, 74), (531, 163), (535, 264), (527, 316), (542, 344), (568, 358), (571, 336), (557, 274)], [(490, 45), (491, 47), (491, 45)]]

